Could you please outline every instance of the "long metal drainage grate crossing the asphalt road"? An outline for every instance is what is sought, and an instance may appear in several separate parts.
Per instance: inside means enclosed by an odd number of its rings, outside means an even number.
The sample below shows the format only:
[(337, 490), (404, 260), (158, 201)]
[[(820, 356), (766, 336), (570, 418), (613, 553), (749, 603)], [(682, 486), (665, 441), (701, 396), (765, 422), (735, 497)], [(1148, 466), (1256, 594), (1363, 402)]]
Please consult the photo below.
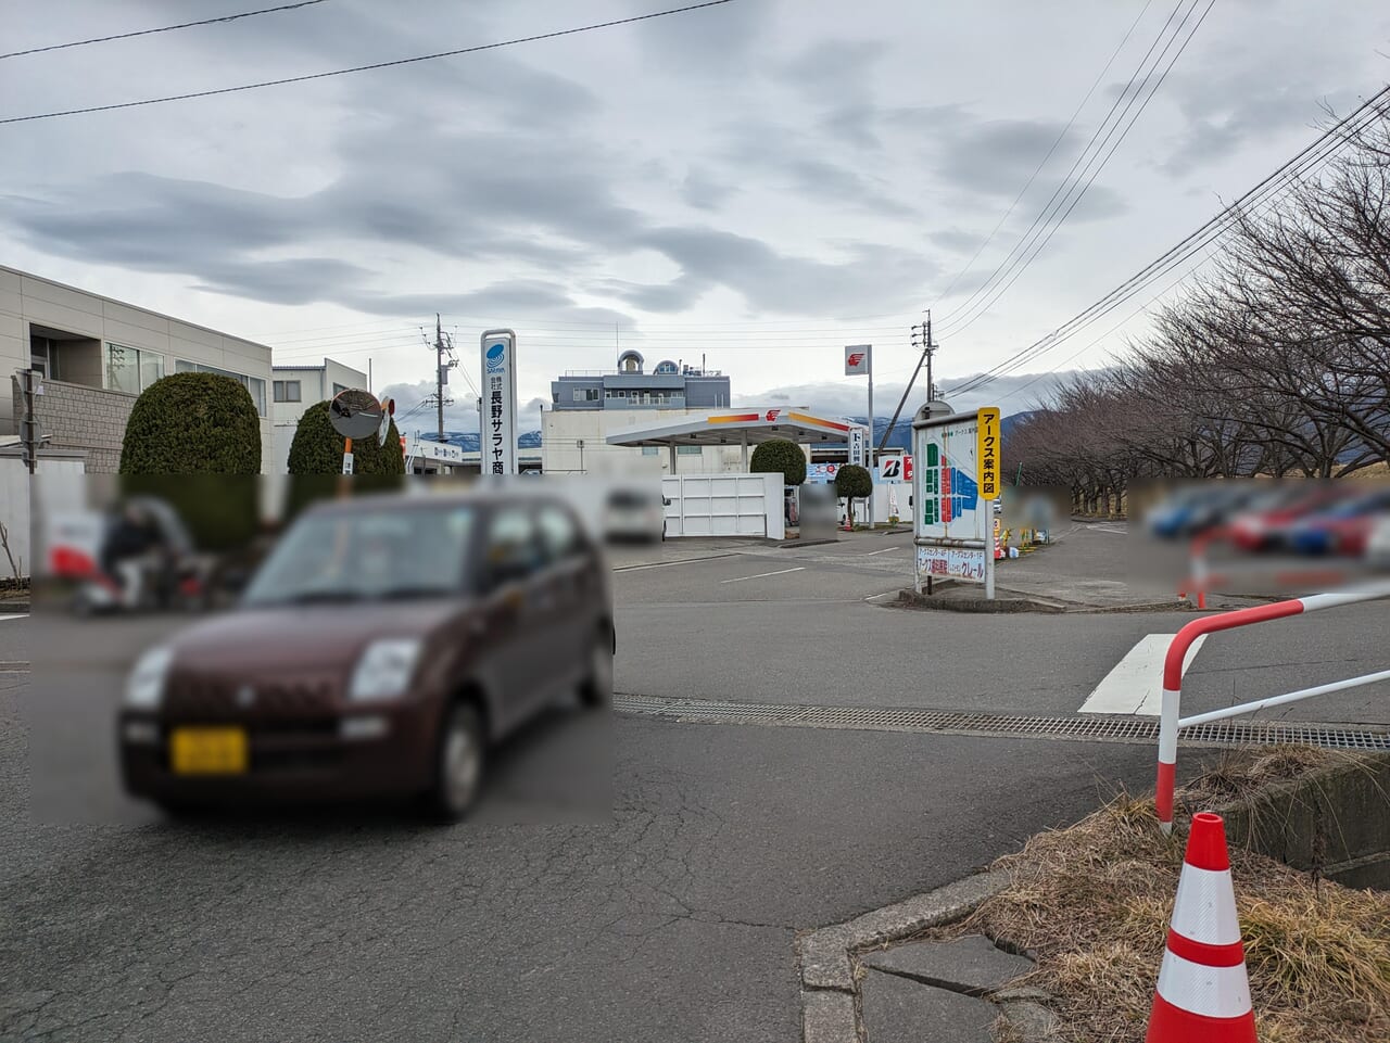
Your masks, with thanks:
[[(885, 707), (781, 706), (719, 699), (662, 699), (617, 694), (613, 708), (624, 714), (669, 721), (741, 724), (784, 728), (844, 728), (866, 732), (938, 732), (997, 735), (1015, 739), (1081, 739), (1112, 743), (1156, 743), (1158, 719), (1148, 717), (1029, 717), (958, 710)], [(1390, 751), (1390, 732), (1318, 724), (1215, 721), (1179, 732), (1184, 746), (1269, 746), (1302, 743), (1332, 750)]]

